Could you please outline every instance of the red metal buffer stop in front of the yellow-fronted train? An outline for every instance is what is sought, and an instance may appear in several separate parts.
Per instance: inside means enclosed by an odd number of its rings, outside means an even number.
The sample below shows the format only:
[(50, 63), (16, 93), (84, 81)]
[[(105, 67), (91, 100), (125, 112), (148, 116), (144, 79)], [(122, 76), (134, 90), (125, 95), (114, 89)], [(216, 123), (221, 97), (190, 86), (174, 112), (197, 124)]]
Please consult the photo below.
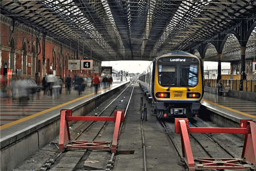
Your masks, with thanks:
[[(194, 171), (196, 168), (248, 170), (256, 166), (256, 126), (253, 120), (240, 120), (240, 128), (191, 128), (187, 118), (175, 118), (175, 132), (181, 136), (182, 155), (189, 171)], [(245, 135), (242, 156), (233, 159), (194, 159), (188, 133), (241, 133)]]

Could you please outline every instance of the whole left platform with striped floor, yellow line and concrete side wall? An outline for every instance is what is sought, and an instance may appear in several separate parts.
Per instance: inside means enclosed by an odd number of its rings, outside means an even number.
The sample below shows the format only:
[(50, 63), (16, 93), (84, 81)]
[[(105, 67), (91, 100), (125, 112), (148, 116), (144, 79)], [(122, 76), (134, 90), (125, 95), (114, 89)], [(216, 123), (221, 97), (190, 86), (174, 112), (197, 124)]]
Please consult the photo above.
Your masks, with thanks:
[(60, 110), (71, 109), (74, 116), (84, 115), (128, 84), (129, 81), (113, 82), (106, 89), (100, 85), (97, 94), (95, 87), (80, 95), (74, 87), (70, 94), (63, 88), (59, 98), (50, 96), (49, 91), (46, 95), (36, 92), (25, 107), (18, 99), (1, 98), (1, 163), (5, 164), (1, 164), (0, 170), (14, 168), (35, 153), (38, 146), (43, 147), (59, 135)]

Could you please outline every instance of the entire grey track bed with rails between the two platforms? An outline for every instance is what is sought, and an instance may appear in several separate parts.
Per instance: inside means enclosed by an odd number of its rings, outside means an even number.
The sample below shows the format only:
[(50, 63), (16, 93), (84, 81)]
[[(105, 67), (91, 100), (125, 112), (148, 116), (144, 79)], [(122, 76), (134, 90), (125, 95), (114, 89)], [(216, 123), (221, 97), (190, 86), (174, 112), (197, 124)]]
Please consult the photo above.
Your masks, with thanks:
[[(134, 86), (138, 87), (138, 84)], [(115, 102), (111, 105), (108, 105), (109, 102), (105, 102), (98, 109), (88, 114), (90, 116), (112, 116), (115, 109), (123, 108), (123, 105), (129, 104), (128, 99), (132, 89), (129, 86), (127, 88), (129, 93), (124, 92), (125, 94), (120, 95), (120, 97), (115, 95), (115, 97), (112, 97)], [(148, 113), (147, 121), (141, 120), (139, 114), (141, 96), (143, 96), (141, 90), (139, 88), (135, 89), (131, 101), (132, 109), (126, 110), (128, 115), (123, 128), (119, 131), (120, 140), (118, 140), (116, 153), (85, 149), (68, 150), (60, 153), (55, 144), (58, 143), (57, 137), (52, 141), (52, 144), (44, 146), (43, 150), (38, 151), (37, 155), (32, 156), (14, 170), (30, 170), (33, 168), (35, 168), (34, 170), (40, 170), (47, 162), (54, 161), (47, 170), (58, 171), (65, 168), (65, 170), (75, 171), (86, 169), (186, 171), (187, 168), (182, 157), (181, 137), (175, 133), (174, 120), (161, 121), (163, 126), (159, 124), (160, 121), (151, 111), (152, 107), (148, 102), (145, 102)], [(83, 122), (83, 124), (76, 122), (70, 126), (71, 140), (111, 141), (113, 127), (114, 124), (111, 122)], [(194, 120), (190, 120), (190, 127), (217, 126), (212, 122), (194, 118)], [(194, 158), (239, 158), (243, 148), (243, 140), (232, 134), (190, 133), (190, 141)], [(97, 155), (103, 153), (105, 153), (105, 158), (98, 159)], [(86, 166), (87, 168), (85, 167), (85, 161), (100, 162), (100, 160), (105, 160), (106, 163), (110, 160), (111, 164), (101, 169), (88, 168), (90, 164)]]

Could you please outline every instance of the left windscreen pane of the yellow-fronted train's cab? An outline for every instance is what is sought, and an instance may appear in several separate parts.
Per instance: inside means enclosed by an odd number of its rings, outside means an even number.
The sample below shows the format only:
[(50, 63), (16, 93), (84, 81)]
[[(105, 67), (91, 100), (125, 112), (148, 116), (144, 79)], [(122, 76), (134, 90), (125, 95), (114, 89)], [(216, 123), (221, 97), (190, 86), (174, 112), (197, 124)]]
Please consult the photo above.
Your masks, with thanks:
[(158, 65), (158, 81), (161, 86), (177, 86), (177, 65)]

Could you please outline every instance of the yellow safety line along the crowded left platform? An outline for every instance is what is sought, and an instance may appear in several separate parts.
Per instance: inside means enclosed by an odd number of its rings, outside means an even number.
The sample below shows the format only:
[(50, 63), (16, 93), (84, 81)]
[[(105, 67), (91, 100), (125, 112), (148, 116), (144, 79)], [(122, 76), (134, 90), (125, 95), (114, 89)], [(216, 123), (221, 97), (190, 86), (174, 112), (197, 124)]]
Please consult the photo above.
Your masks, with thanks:
[[(110, 89), (110, 87), (107, 88), (107, 89)], [(105, 89), (103, 89), (103, 90), (105, 90)], [(101, 92), (101, 91), (103, 91), (103, 90), (100, 90), (100, 91), (98, 91), (98, 92)], [(3, 130), (3, 129), (8, 128), (8, 127), (11, 127), (11, 126), (16, 125), (16, 124), (18, 124), (18, 123), (25, 122), (25, 121), (27, 121), (27, 120), (29, 120), (29, 119), (38, 117), (38, 116), (40, 116), (40, 115), (42, 115), (42, 114), (44, 114), (44, 113), (50, 112), (50, 111), (52, 111), (52, 110), (58, 109), (58, 108), (60, 108), (60, 107), (63, 107), (63, 106), (65, 106), (65, 105), (68, 105), (68, 104), (71, 104), (71, 103), (76, 102), (76, 101), (78, 101), (78, 100), (84, 99), (84, 98), (89, 97), (90, 95), (93, 95), (93, 94), (95, 94), (95, 93), (91, 93), (91, 94), (85, 95), (85, 96), (83, 96), (83, 97), (79, 97), (78, 99), (71, 100), (71, 101), (66, 102), (66, 103), (64, 103), (64, 104), (61, 104), (61, 105), (52, 107), (52, 108), (47, 109), (47, 110), (43, 110), (42, 112), (38, 112), (38, 113), (35, 113), (35, 114), (30, 115), (30, 116), (28, 116), (28, 117), (25, 117), (25, 118), (22, 118), (22, 119), (19, 119), (19, 120), (16, 120), (16, 121), (7, 123), (7, 124), (5, 124), (5, 125), (2, 125), (2, 126), (0, 127), (0, 130)]]

